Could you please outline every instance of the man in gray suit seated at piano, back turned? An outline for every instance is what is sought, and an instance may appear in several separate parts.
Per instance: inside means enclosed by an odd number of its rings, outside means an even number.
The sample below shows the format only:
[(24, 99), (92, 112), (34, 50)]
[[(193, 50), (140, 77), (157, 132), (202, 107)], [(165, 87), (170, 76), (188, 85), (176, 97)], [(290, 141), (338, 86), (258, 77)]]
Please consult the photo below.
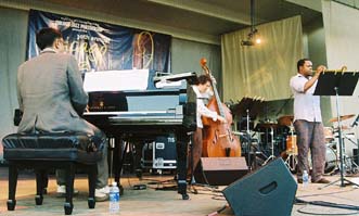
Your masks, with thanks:
[[(17, 97), (24, 113), (18, 132), (79, 131), (95, 136), (105, 142), (105, 135), (82, 119), (88, 96), (82, 87), (77, 61), (64, 53), (62, 34), (53, 28), (43, 28), (36, 35), (41, 53), (23, 63), (17, 72)], [(108, 196), (107, 145), (98, 163), (95, 199)], [(57, 192), (65, 193), (65, 176), (57, 170)]]

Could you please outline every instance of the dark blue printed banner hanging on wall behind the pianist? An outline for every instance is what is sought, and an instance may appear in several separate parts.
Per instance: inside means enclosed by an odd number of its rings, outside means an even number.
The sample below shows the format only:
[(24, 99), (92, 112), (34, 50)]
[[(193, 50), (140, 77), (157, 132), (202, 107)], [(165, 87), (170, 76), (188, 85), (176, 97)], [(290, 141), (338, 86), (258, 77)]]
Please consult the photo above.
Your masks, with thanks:
[(116, 69), (169, 72), (169, 35), (85, 18), (30, 10), (26, 58), (39, 54), (36, 33), (43, 27), (62, 31), (66, 51), (82, 73)]

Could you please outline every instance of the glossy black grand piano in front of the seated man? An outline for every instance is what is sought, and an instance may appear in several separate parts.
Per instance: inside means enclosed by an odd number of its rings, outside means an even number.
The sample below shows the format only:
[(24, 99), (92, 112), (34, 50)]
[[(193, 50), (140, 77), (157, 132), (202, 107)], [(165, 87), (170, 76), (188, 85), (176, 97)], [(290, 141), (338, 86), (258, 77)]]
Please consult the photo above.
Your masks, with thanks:
[[(115, 140), (114, 174), (119, 183), (123, 143), (149, 142), (157, 136), (174, 134), (177, 142), (178, 193), (187, 194), (189, 132), (196, 128), (196, 96), (191, 88), (195, 73), (168, 75), (154, 79), (161, 88), (140, 90), (92, 90), (84, 118)], [(171, 82), (169, 82), (171, 81)], [(177, 85), (172, 85), (176, 82)], [(166, 85), (170, 84), (170, 85)], [(104, 85), (104, 84), (103, 84)]]

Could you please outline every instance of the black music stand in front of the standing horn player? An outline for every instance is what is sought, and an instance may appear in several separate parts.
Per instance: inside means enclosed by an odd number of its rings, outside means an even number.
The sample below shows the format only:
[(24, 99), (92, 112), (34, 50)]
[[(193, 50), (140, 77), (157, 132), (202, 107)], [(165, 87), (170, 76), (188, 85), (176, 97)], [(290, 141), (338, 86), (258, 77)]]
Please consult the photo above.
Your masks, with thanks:
[(341, 162), (341, 178), (330, 182), (329, 185), (322, 187), (325, 188), (328, 186), (334, 185), (337, 181), (341, 181), (341, 187), (345, 187), (344, 181), (348, 183), (352, 183), (359, 186), (348, 179), (344, 178), (343, 175), (343, 138), (342, 138), (342, 123), (339, 115), (339, 96), (352, 96), (352, 92), (357, 86), (359, 78), (359, 73), (355, 72), (328, 72), (320, 74), (317, 82), (317, 88), (315, 90), (315, 96), (335, 96), (336, 101), (336, 115), (337, 115), (337, 124), (338, 124), (338, 134), (339, 134), (339, 162)]

